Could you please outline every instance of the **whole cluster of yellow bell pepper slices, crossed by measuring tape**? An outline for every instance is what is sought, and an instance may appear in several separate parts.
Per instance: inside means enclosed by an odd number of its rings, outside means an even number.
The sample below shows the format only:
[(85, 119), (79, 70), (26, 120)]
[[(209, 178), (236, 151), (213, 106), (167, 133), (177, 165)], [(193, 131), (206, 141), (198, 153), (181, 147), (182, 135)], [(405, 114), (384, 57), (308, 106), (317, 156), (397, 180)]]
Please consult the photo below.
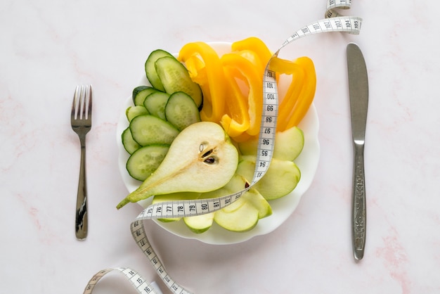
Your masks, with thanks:
[[(203, 92), (200, 118), (221, 124), (235, 141), (258, 136), (263, 107), (263, 75), (272, 53), (261, 39), (235, 41), (231, 53), (219, 57), (204, 42), (188, 43), (178, 59), (185, 63), (191, 79)], [(292, 81), (280, 99), (277, 132), (294, 127), (302, 120), (316, 90), (316, 73), (310, 58), (285, 60), (275, 57), (270, 69), (291, 75)]]

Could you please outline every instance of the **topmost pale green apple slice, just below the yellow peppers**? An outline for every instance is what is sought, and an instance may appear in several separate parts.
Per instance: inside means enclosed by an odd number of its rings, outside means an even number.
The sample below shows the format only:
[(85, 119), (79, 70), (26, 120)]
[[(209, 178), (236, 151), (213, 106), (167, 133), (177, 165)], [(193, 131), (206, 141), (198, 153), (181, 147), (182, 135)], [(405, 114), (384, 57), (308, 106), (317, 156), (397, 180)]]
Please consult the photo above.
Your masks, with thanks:
[[(242, 155), (257, 155), (258, 138), (238, 143)], [(304, 133), (298, 127), (291, 127), (275, 135), (273, 158), (295, 160), (304, 148)]]

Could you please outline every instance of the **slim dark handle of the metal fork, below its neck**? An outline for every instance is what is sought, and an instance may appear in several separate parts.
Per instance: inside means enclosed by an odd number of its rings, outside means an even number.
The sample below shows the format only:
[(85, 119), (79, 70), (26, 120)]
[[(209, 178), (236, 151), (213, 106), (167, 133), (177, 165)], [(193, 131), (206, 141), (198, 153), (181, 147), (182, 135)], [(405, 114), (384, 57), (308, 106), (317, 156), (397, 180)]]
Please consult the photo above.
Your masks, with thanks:
[(77, 211), (75, 217), (75, 234), (79, 240), (87, 236), (87, 185), (86, 185), (86, 144), (81, 144), (81, 165), (79, 167), (79, 183), (77, 194)]

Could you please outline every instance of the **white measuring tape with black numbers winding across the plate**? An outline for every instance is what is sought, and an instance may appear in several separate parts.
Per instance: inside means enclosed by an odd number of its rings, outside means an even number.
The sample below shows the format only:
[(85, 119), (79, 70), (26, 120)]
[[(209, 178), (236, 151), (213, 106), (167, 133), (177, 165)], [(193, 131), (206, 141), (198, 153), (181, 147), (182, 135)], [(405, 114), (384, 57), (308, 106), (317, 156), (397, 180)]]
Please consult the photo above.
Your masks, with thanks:
[[(278, 56), (278, 53), (288, 44), (302, 37), (321, 32), (348, 32), (351, 34), (359, 34), (361, 30), (362, 19), (353, 16), (341, 16), (335, 9), (349, 9), (351, 0), (328, 0), (327, 10), (325, 11), (325, 19), (318, 20), (315, 23), (306, 25), (294, 34), (288, 37), (280, 48), (273, 54), (272, 58)], [(271, 58), (271, 60), (272, 60)], [(212, 199), (182, 200), (155, 203), (148, 206), (141, 212), (138, 217), (131, 223), (131, 235), (138, 247), (143, 251), (150, 263), (156, 269), (165, 285), (176, 294), (190, 294), (188, 290), (176, 283), (164, 269), (164, 265), (156, 255), (153, 247), (148, 241), (143, 226), (144, 219), (154, 218), (174, 218), (174, 217), (190, 217), (195, 215), (204, 215), (230, 205), (240, 198), (243, 193), (249, 190), (261, 177), (264, 176), (272, 160), (273, 146), (276, 134), (276, 120), (278, 117), (278, 87), (275, 79), (275, 72), (268, 69), (271, 62), (269, 60), (266, 65), (263, 77), (263, 113), (261, 115), (261, 127), (259, 132), (259, 146), (257, 153), (257, 162), (254, 170), (252, 183), (242, 191), (238, 191), (228, 196), (222, 196)], [(108, 274), (110, 271), (119, 271), (131, 282), (138, 293), (157, 293), (161, 294), (155, 283), (147, 283), (145, 279), (136, 271), (129, 268), (104, 269), (95, 274), (87, 284), (84, 294), (91, 294), (96, 283)]]

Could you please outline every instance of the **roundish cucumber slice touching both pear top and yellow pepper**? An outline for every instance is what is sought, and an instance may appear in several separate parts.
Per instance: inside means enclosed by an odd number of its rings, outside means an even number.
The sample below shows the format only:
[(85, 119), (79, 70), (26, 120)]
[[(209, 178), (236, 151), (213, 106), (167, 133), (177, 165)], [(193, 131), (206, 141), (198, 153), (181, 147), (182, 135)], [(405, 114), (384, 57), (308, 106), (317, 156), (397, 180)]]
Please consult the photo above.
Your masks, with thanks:
[(168, 122), (174, 125), (179, 131), (190, 124), (200, 122), (200, 113), (193, 98), (183, 92), (176, 92), (169, 96), (164, 111)]

